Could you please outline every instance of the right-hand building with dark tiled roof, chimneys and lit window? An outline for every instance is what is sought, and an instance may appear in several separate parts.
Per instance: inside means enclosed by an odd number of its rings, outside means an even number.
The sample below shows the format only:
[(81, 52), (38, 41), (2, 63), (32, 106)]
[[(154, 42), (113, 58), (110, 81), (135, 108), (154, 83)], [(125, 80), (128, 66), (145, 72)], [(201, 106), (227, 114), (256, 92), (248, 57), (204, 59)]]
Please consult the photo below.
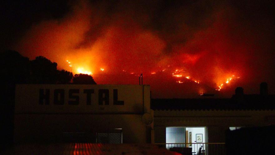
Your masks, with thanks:
[(265, 132), (265, 136), (272, 136), (275, 131), (256, 132), (255, 129), (255, 132), (249, 132), (248, 130), (250, 136), (232, 135), (234, 139), (228, 142), (226, 142), (226, 131), (244, 127), (250, 127), (252, 130), (253, 127), (275, 125), (274, 103), (275, 96), (268, 94), (266, 83), (261, 84), (259, 94), (247, 95), (243, 93), (241, 87), (238, 87), (232, 98), (227, 99), (212, 98), (212, 96), (202, 96), (197, 99), (152, 99), (154, 142), (167, 149), (192, 147), (192, 152), (198, 152), (202, 146), (201, 153), (208, 155), (225, 155), (226, 152), (232, 151), (231, 148), (227, 150), (226, 144), (229, 142), (230, 146), (238, 142), (240, 145), (236, 150), (247, 152), (245, 150), (253, 147), (260, 148), (263, 153), (265, 152), (263, 150), (273, 148), (269, 147), (272, 142), (268, 140), (256, 142), (252, 137), (260, 138), (262, 132)]

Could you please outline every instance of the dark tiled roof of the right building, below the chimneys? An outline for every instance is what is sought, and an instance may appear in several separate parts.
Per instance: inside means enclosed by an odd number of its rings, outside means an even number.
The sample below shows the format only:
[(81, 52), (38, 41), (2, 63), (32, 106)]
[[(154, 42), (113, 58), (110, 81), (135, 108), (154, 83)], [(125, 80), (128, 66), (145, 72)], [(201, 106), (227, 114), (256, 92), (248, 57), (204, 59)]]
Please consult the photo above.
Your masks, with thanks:
[(151, 99), (153, 110), (274, 110), (275, 95), (233, 95), (232, 98)]

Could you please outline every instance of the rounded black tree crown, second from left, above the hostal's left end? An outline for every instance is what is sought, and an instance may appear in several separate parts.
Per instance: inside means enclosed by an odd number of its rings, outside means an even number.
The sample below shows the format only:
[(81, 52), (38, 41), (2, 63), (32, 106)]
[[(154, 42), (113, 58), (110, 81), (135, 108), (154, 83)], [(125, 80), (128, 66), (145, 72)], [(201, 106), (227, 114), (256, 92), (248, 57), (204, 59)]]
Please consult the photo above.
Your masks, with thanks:
[(56, 84), (58, 80), (57, 63), (38, 56), (31, 61), (30, 82), (34, 84)]

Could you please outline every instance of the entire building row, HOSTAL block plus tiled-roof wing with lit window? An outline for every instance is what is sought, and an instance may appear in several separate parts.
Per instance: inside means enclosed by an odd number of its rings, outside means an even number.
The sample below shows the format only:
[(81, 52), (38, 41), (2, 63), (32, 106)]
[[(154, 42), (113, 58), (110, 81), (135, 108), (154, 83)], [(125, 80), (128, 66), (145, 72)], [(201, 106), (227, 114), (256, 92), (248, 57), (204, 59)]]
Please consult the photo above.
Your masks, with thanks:
[(83, 142), (84, 150), (91, 143), (152, 143), (189, 155), (245, 154), (255, 145), (250, 154), (267, 151), (275, 97), (265, 84), (260, 90), (246, 95), (238, 87), (227, 99), (151, 99), (149, 85), (17, 85), (14, 149)]

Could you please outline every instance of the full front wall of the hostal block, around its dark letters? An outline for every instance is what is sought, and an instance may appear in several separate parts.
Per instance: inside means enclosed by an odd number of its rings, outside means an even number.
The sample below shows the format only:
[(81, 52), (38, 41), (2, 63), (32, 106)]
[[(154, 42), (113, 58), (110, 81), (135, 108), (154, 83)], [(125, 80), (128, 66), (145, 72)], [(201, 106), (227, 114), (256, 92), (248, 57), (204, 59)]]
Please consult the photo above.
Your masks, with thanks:
[[(40, 102), (40, 90), (49, 91), (49, 102), (45, 98)], [(78, 104), (70, 98), (72, 89), (79, 90)], [(91, 104), (88, 103), (85, 89), (93, 89)], [(109, 90), (109, 104), (99, 104), (100, 89)], [(115, 105), (117, 90), (118, 101), (123, 105)], [(63, 104), (54, 102), (54, 91), (64, 91)], [(62, 96), (58, 95), (58, 100)], [(15, 100), (14, 141), (20, 142), (59, 142), (64, 141), (64, 133), (81, 133), (85, 142), (96, 142), (96, 133), (115, 132), (122, 129), (123, 143), (150, 143), (153, 125), (146, 126), (142, 121), (144, 113), (153, 116), (150, 110), (149, 85), (17, 85)], [(77, 139), (80, 140), (80, 139)]]

